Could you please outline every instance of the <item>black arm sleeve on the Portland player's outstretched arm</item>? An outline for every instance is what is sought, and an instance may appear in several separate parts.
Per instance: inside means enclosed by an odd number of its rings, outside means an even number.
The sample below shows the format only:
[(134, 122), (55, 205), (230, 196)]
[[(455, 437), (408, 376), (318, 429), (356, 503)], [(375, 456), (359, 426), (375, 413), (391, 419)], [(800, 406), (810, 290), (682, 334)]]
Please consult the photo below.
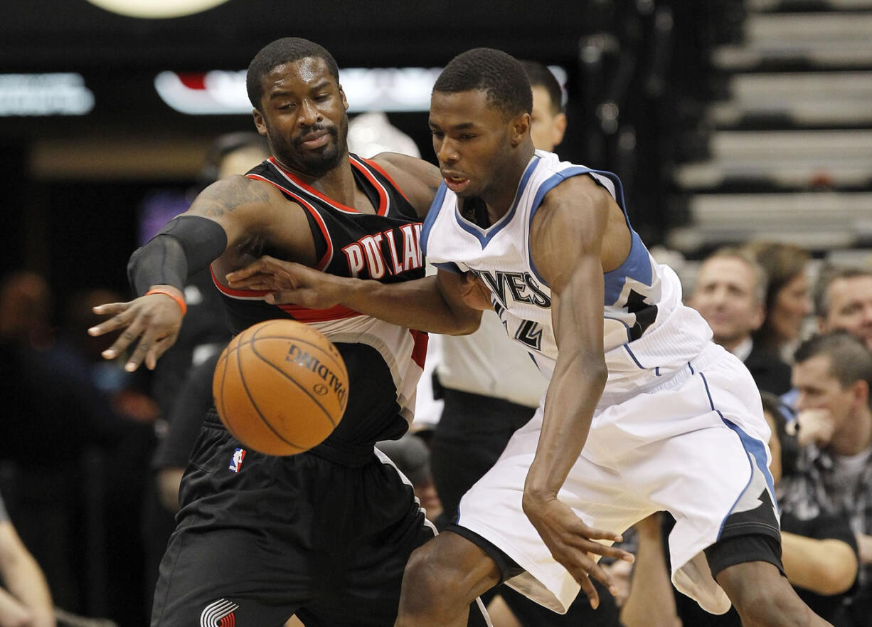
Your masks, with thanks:
[(137, 296), (152, 285), (184, 290), (187, 278), (206, 268), (227, 249), (227, 233), (213, 220), (180, 215), (160, 229), (127, 263), (127, 279)]

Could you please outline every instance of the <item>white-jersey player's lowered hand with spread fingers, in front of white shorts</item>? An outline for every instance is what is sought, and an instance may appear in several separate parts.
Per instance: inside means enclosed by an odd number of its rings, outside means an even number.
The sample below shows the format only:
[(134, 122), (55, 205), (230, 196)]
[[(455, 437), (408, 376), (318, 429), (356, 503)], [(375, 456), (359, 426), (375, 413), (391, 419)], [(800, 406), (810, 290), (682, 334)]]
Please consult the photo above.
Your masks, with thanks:
[(582, 586), (593, 608), (599, 606), (599, 595), (594, 584), (590, 582), (591, 577), (603, 583), (613, 595), (619, 594), (611, 576), (596, 563), (597, 555), (615, 557), (626, 562), (632, 562), (633, 555), (623, 549), (606, 546), (596, 541), (621, 542), (620, 535), (589, 528), (569, 506), (556, 498), (533, 501), (525, 495), (524, 512), (551, 551), (551, 555), (569, 570), (576, 582)]

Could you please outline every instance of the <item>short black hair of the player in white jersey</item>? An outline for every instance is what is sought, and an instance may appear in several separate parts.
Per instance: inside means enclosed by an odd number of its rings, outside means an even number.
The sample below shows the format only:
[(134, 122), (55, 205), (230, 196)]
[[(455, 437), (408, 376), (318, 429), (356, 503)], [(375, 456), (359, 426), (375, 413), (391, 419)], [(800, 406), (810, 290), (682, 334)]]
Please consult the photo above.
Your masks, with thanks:
[(527, 74), (512, 55), (493, 48), (473, 48), (454, 57), (436, 79), (433, 92), (487, 92), (487, 104), (507, 118), (533, 110)]

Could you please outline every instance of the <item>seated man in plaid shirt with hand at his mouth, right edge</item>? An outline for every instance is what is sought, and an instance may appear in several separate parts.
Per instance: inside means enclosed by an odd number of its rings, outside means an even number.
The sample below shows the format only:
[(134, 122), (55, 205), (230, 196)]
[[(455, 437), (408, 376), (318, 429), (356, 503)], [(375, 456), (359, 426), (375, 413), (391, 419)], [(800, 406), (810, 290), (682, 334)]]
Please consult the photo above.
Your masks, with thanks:
[(861, 563), (850, 612), (854, 624), (865, 625), (872, 616), (872, 353), (846, 331), (812, 337), (796, 351), (793, 380), (796, 408), (826, 412), (833, 428), (828, 441), (800, 449), (779, 503), (799, 521), (848, 518)]

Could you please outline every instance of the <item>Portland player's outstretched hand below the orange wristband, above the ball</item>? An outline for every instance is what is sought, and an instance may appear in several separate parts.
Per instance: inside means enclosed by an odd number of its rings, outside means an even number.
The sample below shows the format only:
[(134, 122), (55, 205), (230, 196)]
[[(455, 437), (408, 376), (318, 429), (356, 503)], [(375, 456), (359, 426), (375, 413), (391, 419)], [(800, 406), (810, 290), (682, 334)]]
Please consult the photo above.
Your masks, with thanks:
[[(174, 290), (175, 288), (168, 288)], [(181, 292), (179, 292), (181, 297)], [(92, 336), (105, 335), (123, 329), (118, 339), (103, 357), (114, 359), (139, 340), (124, 369), (133, 372), (145, 361), (153, 370), (158, 358), (175, 343), (184, 316), (179, 303), (166, 294), (148, 294), (127, 303), (105, 303), (93, 309), (99, 316), (112, 316), (105, 322), (88, 329)]]

